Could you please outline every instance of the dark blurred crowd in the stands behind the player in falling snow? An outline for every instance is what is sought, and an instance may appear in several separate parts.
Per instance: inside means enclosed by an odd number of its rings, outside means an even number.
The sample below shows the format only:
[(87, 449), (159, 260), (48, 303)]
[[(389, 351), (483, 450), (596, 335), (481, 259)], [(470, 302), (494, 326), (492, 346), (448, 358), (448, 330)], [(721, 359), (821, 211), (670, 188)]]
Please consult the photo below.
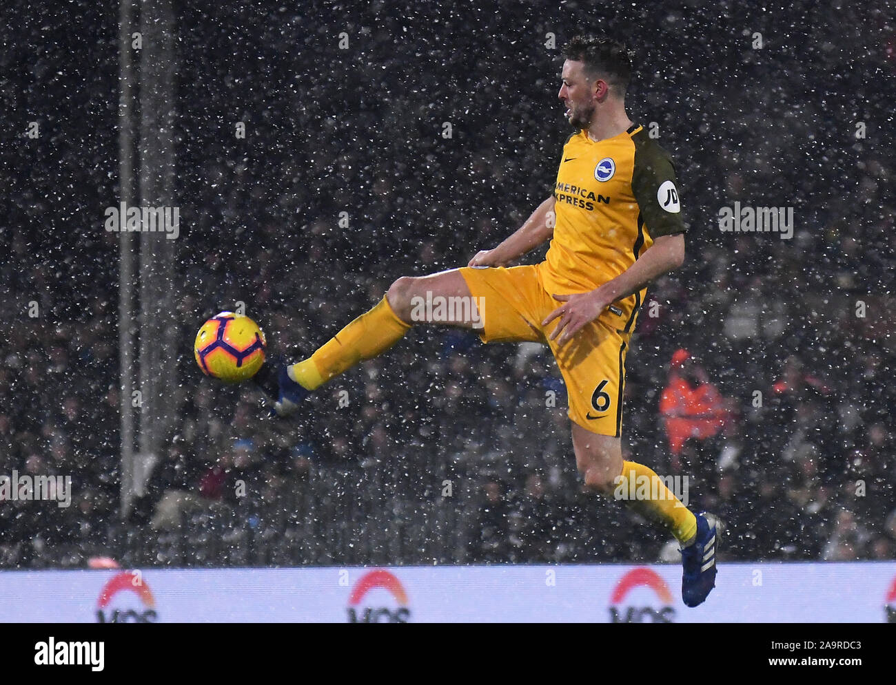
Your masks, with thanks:
[[(497, 5), (179, 11), (177, 418), (126, 515), (117, 235), (102, 230), (116, 51), (84, 40), (47, 83), (59, 57), (40, 46), (73, 40), (47, 7), (49, 29), (0, 56), (21, 91), (0, 104), (45, 131), (0, 146), (0, 464), (73, 476), (69, 508), (0, 502), (0, 565), (674, 561), (667, 534), (582, 489), (547, 348), (417, 328), (289, 422), (264, 419), (251, 385), (203, 378), (191, 349), (202, 321), (242, 302), (272, 352), (308, 355), (394, 278), (513, 232), (570, 132), (549, 35), (559, 48), (607, 27), (638, 56), (630, 116), (676, 160), (688, 227), (685, 266), (650, 287), (627, 358), (625, 457), (686, 475), (692, 508), (728, 522), (728, 559), (893, 558), (883, 10), (735, 8), (719, 28), (699, 2)], [(87, 35), (114, 27), (91, 13)], [(793, 207), (793, 238), (720, 232), (735, 201)]]

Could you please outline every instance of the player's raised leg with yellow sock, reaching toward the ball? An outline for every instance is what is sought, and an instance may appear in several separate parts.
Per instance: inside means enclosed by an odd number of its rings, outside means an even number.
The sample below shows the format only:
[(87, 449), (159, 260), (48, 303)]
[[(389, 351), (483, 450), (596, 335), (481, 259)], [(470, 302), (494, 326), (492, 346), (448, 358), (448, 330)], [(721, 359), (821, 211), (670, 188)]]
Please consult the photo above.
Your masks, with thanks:
[[(274, 410), (278, 415), (291, 414), (299, 402), (323, 383), (346, 372), (355, 364), (373, 359), (395, 345), (410, 327), (426, 323), (426, 318), (415, 320), (416, 304), (432, 302), (436, 297), (470, 297), (470, 288), (456, 269), (430, 276), (401, 277), (392, 283), (385, 297), (369, 312), (361, 314), (340, 330), (313, 355), (297, 364), (274, 362), (265, 364), (256, 374), (256, 382), (271, 398), (276, 398)], [(452, 310), (454, 318), (438, 322), (449, 326), (472, 328), (478, 313), (469, 309)]]

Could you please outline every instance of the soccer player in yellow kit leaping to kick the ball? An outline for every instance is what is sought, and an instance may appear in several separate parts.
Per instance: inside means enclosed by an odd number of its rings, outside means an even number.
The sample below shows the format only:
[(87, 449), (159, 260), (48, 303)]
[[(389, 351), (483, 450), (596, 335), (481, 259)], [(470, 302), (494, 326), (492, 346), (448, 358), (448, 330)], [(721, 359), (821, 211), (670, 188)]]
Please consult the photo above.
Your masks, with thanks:
[[(559, 98), (576, 129), (553, 194), (513, 235), (467, 267), (398, 278), (383, 300), (297, 364), (266, 365), (258, 382), (276, 412), (362, 360), (383, 354), (417, 323), (481, 330), (484, 342), (547, 344), (569, 398), (576, 466), (585, 484), (624, 498), (681, 546), (682, 598), (696, 606), (715, 587), (720, 524), (694, 515), (650, 467), (624, 461), (620, 434), (625, 355), (646, 286), (681, 266), (685, 226), (668, 153), (625, 113), (631, 57), (607, 38), (565, 49)], [(550, 241), (540, 264), (505, 265)], [(460, 298), (460, 299), (456, 299)], [(438, 316), (423, 303), (441, 304)], [(446, 306), (447, 304), (447, 306)]]

